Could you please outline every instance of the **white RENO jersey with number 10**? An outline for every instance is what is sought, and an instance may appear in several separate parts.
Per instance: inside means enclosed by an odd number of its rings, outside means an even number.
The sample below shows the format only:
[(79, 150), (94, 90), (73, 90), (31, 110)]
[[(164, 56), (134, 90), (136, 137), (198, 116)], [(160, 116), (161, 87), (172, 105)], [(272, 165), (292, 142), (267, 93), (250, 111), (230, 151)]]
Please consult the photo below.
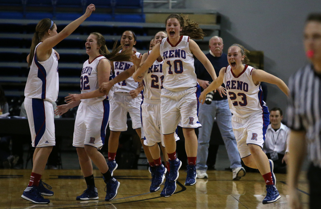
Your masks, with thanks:
[(194, 57), (189, 48), (188, 36), (181, 36), (173, 46), (169, 38), (163, 39), (159, 54), (163, 58), (163, 87), (170, 91), (182, 91), (196, 87), (197, 80), (194, 67)]

